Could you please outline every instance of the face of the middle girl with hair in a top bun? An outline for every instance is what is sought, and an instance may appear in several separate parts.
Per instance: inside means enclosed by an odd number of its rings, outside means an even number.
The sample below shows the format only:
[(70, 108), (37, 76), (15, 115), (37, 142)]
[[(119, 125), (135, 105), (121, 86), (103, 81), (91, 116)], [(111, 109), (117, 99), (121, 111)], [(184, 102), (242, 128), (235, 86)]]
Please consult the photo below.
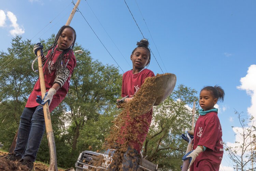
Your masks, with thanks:
[(131, 61), (133, 68), (144, 68), (148, 64), (149, 52), (143, 47), (137, 48), (133, 54), (131, 54)]

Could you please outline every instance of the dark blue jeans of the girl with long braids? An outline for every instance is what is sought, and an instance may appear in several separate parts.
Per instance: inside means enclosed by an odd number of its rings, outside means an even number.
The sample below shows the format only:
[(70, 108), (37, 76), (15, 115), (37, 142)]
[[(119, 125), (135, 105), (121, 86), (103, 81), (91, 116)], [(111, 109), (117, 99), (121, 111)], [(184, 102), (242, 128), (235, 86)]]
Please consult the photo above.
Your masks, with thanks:
[(44, 134), (44, 112), (38, 112), (41, 106), (25, 108), (20, 116), (19, 131), (14, 152), (24, 160), (35, 161)]

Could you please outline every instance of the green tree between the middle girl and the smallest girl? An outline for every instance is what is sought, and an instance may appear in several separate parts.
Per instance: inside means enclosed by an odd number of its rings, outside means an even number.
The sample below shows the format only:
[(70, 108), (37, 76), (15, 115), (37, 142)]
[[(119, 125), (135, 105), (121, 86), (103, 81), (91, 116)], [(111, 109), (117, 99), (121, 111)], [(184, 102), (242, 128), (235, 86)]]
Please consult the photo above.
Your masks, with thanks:
[(180, 170), (187, 143), (181, 139), (185, 130), (191, 130), (192, 109), (197, 91), (179, 85), (162, 104), (153, 109), (150, 130), (144, 142), (143, 156), (158, 163), (162, 170)]

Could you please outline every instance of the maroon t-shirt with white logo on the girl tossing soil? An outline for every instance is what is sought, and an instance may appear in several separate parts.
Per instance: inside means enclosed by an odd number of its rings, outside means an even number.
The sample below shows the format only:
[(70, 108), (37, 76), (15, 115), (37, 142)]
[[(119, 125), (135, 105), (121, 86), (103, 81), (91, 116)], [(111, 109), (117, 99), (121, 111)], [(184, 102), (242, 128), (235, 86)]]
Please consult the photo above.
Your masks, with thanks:
[[(144, 83), (144, 80), (147, 77), (155, 76), (155, 74), (148, 69), (143, 69), (137, 74), (133, 74), (132, 70), (127, 71), (123, 75), (123, 83), (122, 83), (122, 97), (128, 96), (131, 97), (132, 95), (136, 94), (137, 91), (141, 88), (141, 85)], [(148, 129), (151, 124), (152, 120), (152, 113), (153, 109), (151, 109), (149, 112), (142, 114), (141, 116), (138, 116), (136, 118), (133, 118), (133, 120), (127, 119), (125, 128), (123, 128), (123, 131), (126, 132), (127, 127), (131, 128), (133, 131), (133, 134), (138, 135), (137, 140), (133, 141), (130, 140), (129, 145), (136, 149), (139, 153), (141, 151), (143, 142), (146, 138)], [(128, 116), (128, 118), (130, 118)], [(129, 129), (128, 128), (128, 129)], [(121, 141), (121, 143), (123, 140)]]

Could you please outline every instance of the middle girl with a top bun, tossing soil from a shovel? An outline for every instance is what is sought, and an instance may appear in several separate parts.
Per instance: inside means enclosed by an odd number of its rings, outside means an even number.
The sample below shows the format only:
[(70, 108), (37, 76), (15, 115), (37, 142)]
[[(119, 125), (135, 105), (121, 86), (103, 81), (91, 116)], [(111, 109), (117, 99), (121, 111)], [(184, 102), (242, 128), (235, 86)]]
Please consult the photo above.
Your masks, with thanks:
[[(151, 70), (145, 68), (150, 63), (150, 49), (148, 48), (148, 44), (147, 39), (142, 39), (140, 42), (137, 42), (137, 47), (131, 53), (132, 70), (124, 73), (122, 82), (121, 96), (129, 96), (129, 98), (125, 99), (125, 102), (132, 100), (133, 95), (139, 91), (147, 77), (155, 76)], [(118, 153), (117, 149), (110, 170), (137, 170), (141, 148), (151, 124), (152, 112), (153, 109), (133, 119), (127, 114), (127, 118), (124, 119), (125, 125), (120, 130), (121, 134), (132, 132), (136, 136), (136, 140), (126, 140), (123, 136), (119, 137), (118, 143), (125, 146), (125, 151)], [(122, 148), (122, 145), (119, 148)], [(128, 145), (128, 148), (126, 145)]]

